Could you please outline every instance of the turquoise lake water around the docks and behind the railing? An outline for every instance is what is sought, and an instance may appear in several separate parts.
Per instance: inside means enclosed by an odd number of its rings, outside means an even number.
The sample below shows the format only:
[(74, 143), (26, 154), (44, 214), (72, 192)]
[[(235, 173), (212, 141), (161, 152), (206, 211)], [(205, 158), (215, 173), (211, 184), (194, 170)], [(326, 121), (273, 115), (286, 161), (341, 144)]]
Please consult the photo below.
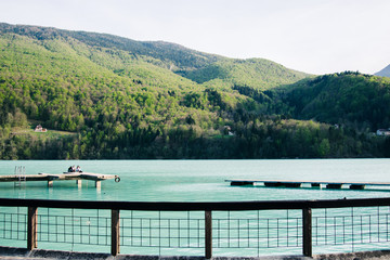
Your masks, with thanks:
[[(276, 188), (264, 186), (231, 186), (229, 182), (224, 181), (226, 179), (281, 179), (299, 181), (390, 182), (390, 159), (18, 160), (0, 161), (0, 174), (14, 174), (15, 167), (17, 166), (24, 166), (26, 174), (37, 174), (38, 172), (61, 173), (66, 171), (70, 165), (79, 165), (83, 171), (88, 172), (118, 174), (121, 181), (119, 183), (114, 182), (114, 180), (103, 181), (101, 188), (95, 188), (93, 181), (82, 181), (81, 187), (78, 187), (75, 181), (57, 181), (54, 182), (53, 187), (48, 187), (47, 182), (29, 182), (21, 187), (15, 187), (14, 183), (0, 183), (0, 197), (107, 202), (248, 202), (368, 198), (389, 197), (390, 195), (390, 187), (367, 186), (364, 191), (309, 187)], [(4, 211), (8, 209), (0, 208), (0, 210)], [(42, 210), (39, 212), (46, 211)], [(264, 218), (273, 218), (272, 212), (265, 211), (261, 213), (264, 213)], [(295, 213), (300, 218), (300, 212), (287, 212), (287, 216), (294, 217)], [(81, 214), (88, 216), (89, 213)], [(244, 217), (246, 214), (253, 217), (256, 213), (239, 213), (239, 216)], [(104, 213), (101, 216), (104, 217)], [(202, 219), (202, 213), (199, 216)], [(216, 213), (214, 217), (218, 217), (218, 213)], [(79, 218), (77, 221), (82, 222), (83, 219)], [(87, 222), (89, 222), (89, 220)], [(48, 236), (50, 236), (50, 232)], [(44, 235), (41, 236), (41, 239), (46, 239)], [(126, 243), (127, 242), (123, 240), (123, 244)], [(171, 243), (171, 240), (169, 240), (169, 243)], [(172, 243), (174, 242), (172, 240)], [(40, 242), (38, 247), (109, 252), (109, 247), (107, 246), (91, 247), (76, 244), (58, 244), (56, 242), (53, 245), (52, 243)], [(0, 245), (25, 247), (25, 242), (1, 239), (0, 234)], [(368, 249), (375, 249), (375, 247), (376, 245)], [(323, 248), (322, 250), (328, 252), (327, 248)], [(356, 247), (351, 247), (350, 245), (347, 247), (336, 246), (336, 249), (333, 248), (333, 250), (351, 251), (356, 250)], [(364, 250), (367, 250), (367, 248), (364, 248)], [(132, 247), (130, 247), (130, 249), (121, 247), (121, 252), (176, 255), (171, 249), (161, 251), (159, 248), (138, 248), (135, 250)], [(214, 252), (220, 256), (300, 255), (301, 248), (298, 246), (292, 249), (271, 248), (248, 251), (245, 249), (226, 250), (222, 248), (216, 249)], [(185, 248), (181, 249), (178, 253), (198, 256), (203, 253), (203, 249)]]

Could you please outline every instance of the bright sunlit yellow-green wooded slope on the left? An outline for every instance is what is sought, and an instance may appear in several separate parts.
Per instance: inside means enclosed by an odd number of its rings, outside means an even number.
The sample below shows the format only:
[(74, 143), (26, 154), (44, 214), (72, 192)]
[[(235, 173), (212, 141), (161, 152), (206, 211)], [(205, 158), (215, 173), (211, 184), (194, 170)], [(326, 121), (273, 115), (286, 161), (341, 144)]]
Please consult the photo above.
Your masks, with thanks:
[(127, 112), (143, 123), (174, 118), (167, 104), (172, 102), (172, 113), (188, 113), (179, 103), (194, 89), (191, 80), (126, 53), (12, 34), (0, 38), (0, 50), (3, 121), (18, 109), (48, 127), (75, 131), (84, 127), (79, 117), (92, 127), (102, 114)]

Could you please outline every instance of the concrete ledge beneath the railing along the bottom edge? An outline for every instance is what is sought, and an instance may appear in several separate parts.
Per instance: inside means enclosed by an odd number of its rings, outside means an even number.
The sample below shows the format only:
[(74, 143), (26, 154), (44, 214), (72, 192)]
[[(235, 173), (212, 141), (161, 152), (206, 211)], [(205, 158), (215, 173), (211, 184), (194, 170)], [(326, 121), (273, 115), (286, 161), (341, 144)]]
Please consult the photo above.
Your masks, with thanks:
[[(113, 257), (110, 253), (101, 252), (75, 252), (61, 250), (44, 250), (0, 246), (0, 259), (102, 259), (102, 260), (203, 260), (205, 257), (176, 257), (176, 256), (139, 256), (139, 255), (118, 255)], [(303, 256), (263, 256), (263, 257), (214, 257), (213, 260), (386, 260), (390, 259), (390, 250), (363, 251), (315, 255), (313, 258)]]

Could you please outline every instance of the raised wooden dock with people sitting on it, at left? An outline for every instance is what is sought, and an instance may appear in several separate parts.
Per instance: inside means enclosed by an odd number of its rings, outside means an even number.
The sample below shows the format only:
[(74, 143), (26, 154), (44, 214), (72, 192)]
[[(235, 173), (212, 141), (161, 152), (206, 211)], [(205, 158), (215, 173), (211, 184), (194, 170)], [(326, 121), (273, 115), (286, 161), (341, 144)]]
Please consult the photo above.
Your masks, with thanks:
[(53, 186), (54, 181), (76, 181), (81, 186), (82, 180), (95, 181), (95, 187), (101, 187), (101, 181), (114, 179), (119, 182), (120, 178), (113, 174), (100, 174), (92, 172), (64, 172), (64, 173), (38, 173), (38, 174), (15, 174), (0, 176), (0, 182), (29, 182), (29, 181), (47, 181), (48, 186)]

